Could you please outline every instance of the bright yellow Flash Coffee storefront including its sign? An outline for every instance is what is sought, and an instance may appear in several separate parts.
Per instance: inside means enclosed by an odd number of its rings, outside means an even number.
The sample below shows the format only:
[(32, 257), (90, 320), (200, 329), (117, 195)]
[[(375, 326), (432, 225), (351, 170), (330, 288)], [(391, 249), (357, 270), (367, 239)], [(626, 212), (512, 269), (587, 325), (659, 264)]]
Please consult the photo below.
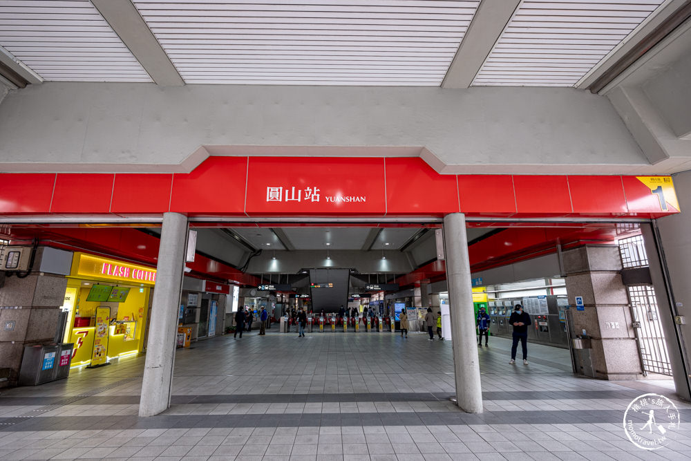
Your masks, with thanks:
[(75, 345), (73, 367), (143, 351), (155, 276), (151, 267), (74, 254), (62, 306), (68, 312), (64, 341)]

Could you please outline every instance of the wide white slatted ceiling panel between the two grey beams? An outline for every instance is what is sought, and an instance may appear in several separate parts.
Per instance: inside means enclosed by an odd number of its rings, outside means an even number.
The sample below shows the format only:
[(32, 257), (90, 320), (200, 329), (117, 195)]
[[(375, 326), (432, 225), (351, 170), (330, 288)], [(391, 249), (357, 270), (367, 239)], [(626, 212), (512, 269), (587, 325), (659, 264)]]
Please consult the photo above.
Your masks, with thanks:
[(187, 83), (441, 84), (477, 0), (135, 0)]

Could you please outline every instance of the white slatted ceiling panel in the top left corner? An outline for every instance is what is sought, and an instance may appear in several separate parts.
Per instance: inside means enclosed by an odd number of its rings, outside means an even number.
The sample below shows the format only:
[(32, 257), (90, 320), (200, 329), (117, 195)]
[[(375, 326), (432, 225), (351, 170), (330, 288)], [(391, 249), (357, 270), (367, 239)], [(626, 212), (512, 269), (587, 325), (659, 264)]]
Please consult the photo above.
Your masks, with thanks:
[(46, 80), (151, 82), (88, 0), (0, 0), (0, 45)]

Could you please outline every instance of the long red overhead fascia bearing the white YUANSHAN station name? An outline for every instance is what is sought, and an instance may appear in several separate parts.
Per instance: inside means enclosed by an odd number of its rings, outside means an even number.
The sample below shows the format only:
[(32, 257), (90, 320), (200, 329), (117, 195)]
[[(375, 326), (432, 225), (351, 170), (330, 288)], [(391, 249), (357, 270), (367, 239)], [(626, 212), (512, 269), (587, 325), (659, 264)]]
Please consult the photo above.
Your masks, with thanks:
[[(319, 189), (319, 200), (269, 201), (270, 187)], [(337, 196), (353, 201), (328, 201)], [(0, 220), (167, 211), (230, 217), (462, 211), (502, 218), (659, 218), (679, 211), (667, 208), (636, 176), (442, 175), (421, 158), (212, 156), (191, 173), (0, 173)]]

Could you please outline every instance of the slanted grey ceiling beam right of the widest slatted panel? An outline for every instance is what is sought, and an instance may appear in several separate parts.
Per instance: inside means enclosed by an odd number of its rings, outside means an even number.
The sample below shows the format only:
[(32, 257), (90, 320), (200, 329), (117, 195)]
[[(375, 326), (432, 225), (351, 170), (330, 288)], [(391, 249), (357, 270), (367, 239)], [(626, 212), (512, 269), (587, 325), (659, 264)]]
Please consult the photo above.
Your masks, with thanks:
[(502, 35), (521, 0), (482, 0), (456, 54), (442, 88), (468, 88)]

